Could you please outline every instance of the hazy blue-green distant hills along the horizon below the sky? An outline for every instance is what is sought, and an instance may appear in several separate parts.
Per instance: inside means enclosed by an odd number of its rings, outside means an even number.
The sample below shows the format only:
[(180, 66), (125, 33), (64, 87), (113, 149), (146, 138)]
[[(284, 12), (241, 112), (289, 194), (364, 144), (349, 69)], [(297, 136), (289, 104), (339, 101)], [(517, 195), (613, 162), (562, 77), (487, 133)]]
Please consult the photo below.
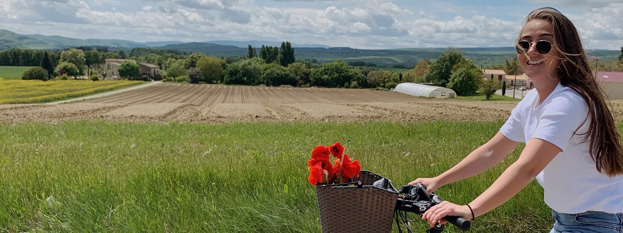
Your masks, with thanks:
[[(130, 50), (136, 47), (153, 47), (182, 50), (186, 52), (200, 52), (216, 57), (246, 56), (247, 46), (262, 47), (262, 45), (280, 47), (281, 42), (249, 40), (237, 42), (232, 40), (212, 40), (210, 43), (200, 42), (132, 42), (129, 40), (100, 40), (100, 39), (72, 39), (59, 36), (20, 35), (8, 30), (0, 29), (0, 50), (10, 48), (54, 49), (78, 46), (103, 46), (113, 50)], [(297, 59), (316, 59), (318, 62), (342, 60), (344, 62), (366, 62), (382, 66), (405, 65), (413, 66), (424, 60), (434, 60), (449, 48), (395, 48), (386, 50), (368, 50), (349, 47), (328, 47), (326, 45), (292, 44)], [(507, 58), (516, 56), (513, 47), (486, 47), (486, 48), (454, 48), (460, 49), (465, 57), (470, 58), (478, 66), (487, 66), (503, 63)], [(258, 50), (257, 53), (260, 51)], [(600, 60), (616, 60), (621, 54), (619, 50), (590, 50), (590, 57)]]

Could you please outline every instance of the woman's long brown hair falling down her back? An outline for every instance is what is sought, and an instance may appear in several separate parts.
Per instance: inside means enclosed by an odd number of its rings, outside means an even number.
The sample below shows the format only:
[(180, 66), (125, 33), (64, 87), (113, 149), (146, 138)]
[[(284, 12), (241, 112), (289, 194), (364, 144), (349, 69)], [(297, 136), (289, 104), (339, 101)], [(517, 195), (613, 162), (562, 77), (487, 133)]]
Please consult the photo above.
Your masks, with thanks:
[[(586, 101), (590, 117), (590, 127), (584, 141), (591, 140), (589, 151), (600, 173), (608, 176), (623, 174), (623, 148), (621, 136), (617, 132), (614, 118), (608, 109), (606, 95), (597, 84), (578, 31), (573, 23), (558, 10), (543, 7), (530, 12), (525, 23), (545, 20), (554, 27), (554, 46), (558, 50), (558, 77), (561, 85), (576, 91)], [(521, 36), (521, 35), (520, 35)], [(581, 126), (580, 126), (581, 127)], [(579, 127), (578, 127), (579, 129)], [(577, 130), (576, 129), (576, 132)], [(577, 134), (574, 132), (574, 134)]]

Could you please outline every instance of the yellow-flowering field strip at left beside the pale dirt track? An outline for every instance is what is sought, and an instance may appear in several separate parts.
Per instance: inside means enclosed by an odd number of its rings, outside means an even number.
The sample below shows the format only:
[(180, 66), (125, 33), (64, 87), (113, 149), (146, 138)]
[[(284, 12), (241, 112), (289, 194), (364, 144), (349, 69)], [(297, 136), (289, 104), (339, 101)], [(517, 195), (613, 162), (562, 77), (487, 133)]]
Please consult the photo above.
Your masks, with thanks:
[(0, 104), (46, 103), (113, 91), (145, 83), (121, 80), (2, 80)]

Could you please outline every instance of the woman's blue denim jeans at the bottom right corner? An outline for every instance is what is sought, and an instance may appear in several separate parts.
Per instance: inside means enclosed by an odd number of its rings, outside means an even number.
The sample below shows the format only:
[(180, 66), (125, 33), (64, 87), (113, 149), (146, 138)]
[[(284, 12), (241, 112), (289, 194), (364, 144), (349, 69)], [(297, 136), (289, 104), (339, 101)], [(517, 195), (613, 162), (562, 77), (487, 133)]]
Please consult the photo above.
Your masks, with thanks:
[(623, 212), (587, 211), (579, 214), (561, 214), (551, 211), (554, 228), (549, 233), (623, 233)]

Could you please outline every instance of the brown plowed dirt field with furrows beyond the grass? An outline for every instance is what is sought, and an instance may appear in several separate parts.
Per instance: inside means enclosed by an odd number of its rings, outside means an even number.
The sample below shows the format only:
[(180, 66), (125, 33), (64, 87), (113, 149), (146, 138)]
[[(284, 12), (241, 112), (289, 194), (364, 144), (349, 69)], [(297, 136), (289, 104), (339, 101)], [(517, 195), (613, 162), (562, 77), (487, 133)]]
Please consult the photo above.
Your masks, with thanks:
[[(79, 103), (0, 105), (0, 122), (498, 121), (516, 102), (417, 98), (369, 89), (169, 84)], [(623, 101), (613, 101), (617, 120)]]

